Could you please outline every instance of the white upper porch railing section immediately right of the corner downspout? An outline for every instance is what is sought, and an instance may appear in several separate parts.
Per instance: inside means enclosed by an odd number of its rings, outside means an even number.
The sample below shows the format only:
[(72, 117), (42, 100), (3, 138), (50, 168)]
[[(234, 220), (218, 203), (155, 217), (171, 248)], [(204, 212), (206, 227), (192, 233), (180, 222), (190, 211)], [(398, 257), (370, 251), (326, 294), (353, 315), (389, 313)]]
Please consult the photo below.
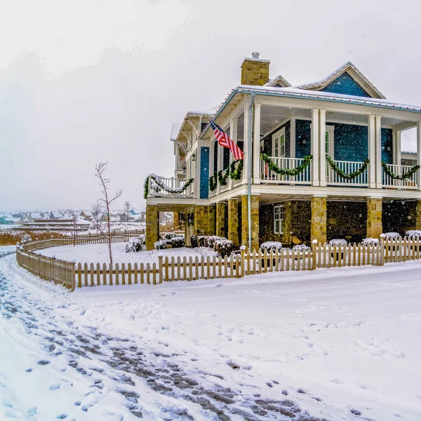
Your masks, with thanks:
[[(303, 161), (303, 158), (277, 158), (271, 156), (270, 159), (281, 169), (293, 170), (297, 168)], [(274, 184), (289, 184), (289, 185), (309, 185), (312, 181), (312, 163), (305, 168), (298, 175), (281, 175), (276, 174), (269, 168), (269, 165), (260, 160), (260, 179), (262, 182)]]

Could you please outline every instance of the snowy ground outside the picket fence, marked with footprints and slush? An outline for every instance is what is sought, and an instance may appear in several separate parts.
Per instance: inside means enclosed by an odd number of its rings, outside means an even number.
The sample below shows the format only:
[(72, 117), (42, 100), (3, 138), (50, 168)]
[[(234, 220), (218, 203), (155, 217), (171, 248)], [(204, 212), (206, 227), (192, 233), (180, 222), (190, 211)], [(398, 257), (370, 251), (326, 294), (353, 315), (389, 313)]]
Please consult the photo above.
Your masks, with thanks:
[(419, 421), (420, 302), (421, 262), (68, 293), (8, 255), (0, 420)]

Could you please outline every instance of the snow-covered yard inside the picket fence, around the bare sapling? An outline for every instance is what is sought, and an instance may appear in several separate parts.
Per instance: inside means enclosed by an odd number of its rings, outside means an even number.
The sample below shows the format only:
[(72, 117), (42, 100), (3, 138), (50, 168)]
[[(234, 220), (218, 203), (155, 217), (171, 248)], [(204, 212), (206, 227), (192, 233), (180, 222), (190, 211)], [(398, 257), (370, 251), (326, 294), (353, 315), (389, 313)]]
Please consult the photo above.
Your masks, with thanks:
[[(77, 263), (109, 263), (109, 254), (106, 244), (84, 244), (83, 246), (58, 246), (51, 248), (44, 248), (36, 253), (45, 256), (53, 256), (55, 258), (72, 261), (76, 260)], [(218, 253), (206, 247), (199, 248), (167, 248), (166, 250), (151, 250), (140, 251), (138, 253), (126, 253), (126, 243), (113, 243), (112, 244), (112, 259), (114, 263), (152, 263), (158, 262), (158, 255), (161, 253), (168, 258), (183, 258), (184, 256), (192, 257), (197, 256), (213, 256)]]

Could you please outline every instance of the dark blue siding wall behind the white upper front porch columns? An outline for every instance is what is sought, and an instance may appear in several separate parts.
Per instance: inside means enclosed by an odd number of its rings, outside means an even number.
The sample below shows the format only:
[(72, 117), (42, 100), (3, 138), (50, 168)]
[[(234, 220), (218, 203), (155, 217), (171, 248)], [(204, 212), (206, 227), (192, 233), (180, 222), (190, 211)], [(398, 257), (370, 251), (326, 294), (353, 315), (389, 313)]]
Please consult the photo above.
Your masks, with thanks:
[[(295, 126), (295, 156), (304, 158), (311, 153), (311, 121), (297, 120)], [(334, 126), (334, 155), (338, 161), (363, 161), (368, 156), (368, 128), (355, 124), (330, 123)], [(392, 163), (392, 129), (382, 128), (382, 160)]]

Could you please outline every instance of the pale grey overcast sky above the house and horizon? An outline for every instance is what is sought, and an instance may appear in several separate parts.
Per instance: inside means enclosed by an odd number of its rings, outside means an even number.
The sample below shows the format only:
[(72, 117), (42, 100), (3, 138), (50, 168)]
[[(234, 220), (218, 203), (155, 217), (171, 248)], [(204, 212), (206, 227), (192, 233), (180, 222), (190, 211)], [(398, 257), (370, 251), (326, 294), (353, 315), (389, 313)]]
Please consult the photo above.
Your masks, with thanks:
[(420, 0), (4, 0), (0, 210), (89, 208), (98, 161), (116, 206), (143, 208), (145, 175), (173, 175), (172, 123), (222, 102), (252, 51), (292, 84), (351, 60), (421, 105), (420, 14)]

